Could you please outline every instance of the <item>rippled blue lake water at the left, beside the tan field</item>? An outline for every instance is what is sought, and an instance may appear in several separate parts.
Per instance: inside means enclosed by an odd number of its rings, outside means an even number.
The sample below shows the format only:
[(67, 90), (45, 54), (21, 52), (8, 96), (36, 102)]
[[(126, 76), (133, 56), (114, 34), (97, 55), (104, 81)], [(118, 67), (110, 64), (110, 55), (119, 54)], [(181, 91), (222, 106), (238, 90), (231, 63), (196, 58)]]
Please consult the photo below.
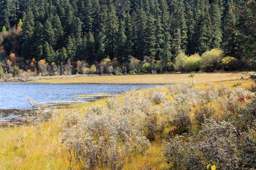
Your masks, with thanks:
[(0, 119), (22, 117), (31, 106), (27, 96), (37, 104), (58, 105), (72, 102), (86, 102), (114, 93), (132, 89), (162, 85), (123, 85), (123, 84), (50, 84), (29, 82), (0, 82)]

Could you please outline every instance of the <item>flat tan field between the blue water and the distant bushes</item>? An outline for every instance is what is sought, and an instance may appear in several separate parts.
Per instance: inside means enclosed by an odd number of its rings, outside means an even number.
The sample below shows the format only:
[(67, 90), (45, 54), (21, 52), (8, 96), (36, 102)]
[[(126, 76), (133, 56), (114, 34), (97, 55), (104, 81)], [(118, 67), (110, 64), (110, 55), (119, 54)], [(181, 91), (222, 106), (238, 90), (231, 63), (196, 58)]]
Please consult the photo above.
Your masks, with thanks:
[[(191, 83), (189, 74), (157, 74), (157, 75), (123, 75), (123, 76), (84, 76), (73, 78), (41, 79), (40, 83), (106, 83), (106, 84), (172, 84)], [(194, 83), (207, 83), (235, 80), (244, 74), (231, 73), (198, 73), (193, 77)], [(245, 76), (248, 78), (249, 76)]]

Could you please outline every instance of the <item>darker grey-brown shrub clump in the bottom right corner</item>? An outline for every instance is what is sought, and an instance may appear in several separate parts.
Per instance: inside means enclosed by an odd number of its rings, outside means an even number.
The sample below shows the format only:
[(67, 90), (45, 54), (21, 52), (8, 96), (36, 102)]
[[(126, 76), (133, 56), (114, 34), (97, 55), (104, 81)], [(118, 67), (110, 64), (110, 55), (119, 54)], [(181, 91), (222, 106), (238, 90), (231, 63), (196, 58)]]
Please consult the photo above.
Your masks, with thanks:
[[(246, 148), (246, 146), (248, 146)], [(255, 169), (255, 142), (232, 124), (207, 120), (198, 136), (170, 139), (164, 146), (164, 159), (174, 170), (201, 170), (215, 164), (217, 169)]]

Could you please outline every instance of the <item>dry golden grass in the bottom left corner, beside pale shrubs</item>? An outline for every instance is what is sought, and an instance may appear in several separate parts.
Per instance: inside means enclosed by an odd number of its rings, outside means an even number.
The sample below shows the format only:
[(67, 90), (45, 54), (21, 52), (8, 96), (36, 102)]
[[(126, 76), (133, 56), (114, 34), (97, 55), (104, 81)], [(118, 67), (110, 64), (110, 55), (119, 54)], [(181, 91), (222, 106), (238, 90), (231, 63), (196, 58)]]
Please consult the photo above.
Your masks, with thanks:
[(0, 169), (66, 170), (67, 153), (59, 132), (57, 122), (43, 124), (40, 135), (33, 126), (0, 130)]

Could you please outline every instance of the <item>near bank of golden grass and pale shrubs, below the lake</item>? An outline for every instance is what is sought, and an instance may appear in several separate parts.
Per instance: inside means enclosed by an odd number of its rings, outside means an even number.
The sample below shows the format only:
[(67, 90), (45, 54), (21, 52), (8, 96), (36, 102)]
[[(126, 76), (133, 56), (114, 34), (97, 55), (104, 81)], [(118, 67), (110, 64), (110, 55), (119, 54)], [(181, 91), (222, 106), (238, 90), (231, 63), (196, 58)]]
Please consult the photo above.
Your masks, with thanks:
[[(249, 140), (246, 143), (247, 146), (254, 144), (250, 140), (256, 140), (255, 132), (252, 131), (255, 124), (251, 121), (255, 117), (247, 115), (250, 111), (247, 110), (247, 105), (253, 102), (255, 97), (252, 93), (240, 89), (240, 87), (249, 88), (253, 85), (253, 81), (244, 80), (240, 83), (224, 81), (222, 85), (219, 81), (197, 84), (195, 88), (174, 86), (174, 88), (164, 87), (126, 92), (122, 96), (54, 110), (52, 118), (43, 122), (39, 127), (29, 125), (2, 129), (0, 130), (0, 169), (67, 170), (69, 166), (81, 169), (81, 165), (86, 165), (91, 170), (97, 167), (100, 170), (115, 170), (118, 166), (122, 166), (123, 170), (140, 170), (141, 168), (142, 170), (153, 170), (153, 168), (155, 170), (183, 170), (188, 163), (194, 163), (191, 155), (201, 162), (200, 166), (204, 167), (204, 163), (206, 165), (211, 163), (219, 167), (221, 165), (216, 160), (229, 151), (234, 141), (229, 141), (227, 145), (221, 144), (236, 137), (236, 134), (233, 134), (234, 129), (239, 132), (241, 139), (244, 137), (243, 134), (246, 134)], [(249, 97), (246, 98), (246, 96)], [(183, 113), (179, 111), (180, 109), (185, 110), (186, 115), (180, 114)], [(210, 111), (209, 115), (205, 115), (207, 110)], [(241, 110), (247, 112), (241, 112)], [(207, 116), (207, 119), (213, 119), (211, 121), (214, 122), (209, 123), (204, 116)], [(184, 122), (180, 119), (185, 120), (186, 123), (183, 124)], [(249, 123), (250, 128), (247, 126)], [(91, 126), (86, 127), (86, 125)], [(212, 150), (213, 154), (207, 155), (211, 150), (201, 153), (200, 150), (196, 150), (196, 147), (192, 151), (191, 148), (194, 146), (190, 143), (190, 138), (203, 133), (202, 129), (207, 130), (206, 132), (218, 131), (214, 128), (215, 126), (222, 131), (228, 127), (233, 128), (232, 131), (227, 131), (230, 133), (230, 138), (226, 132), (221, 131), (224, 136), (217, 137), (220, 145), (214, 143), (214, 147), (220, 150), (224, 146), (228, 147), (225, 151), (221, 150), (225, 153), (218, 155)], [(206, 127), (211, 127), (211, 129), (205, 129)], [(178, 129), (175, 130), (175, 128)], [(177, 137), (179, 139), (176, 139)], [(211, 139), (205, 138), (207, 134), (200, 137), (205, 141)], [(210, 137), (215, 139), (215, 136)], [(236, 142), (243, 144), (240, 138)], [(170, 140), (173, 140), (172, 143), (169, 142)], [(180, 140), (183, 140), (183, 143), (180, 143)], [(200, 138), (197, 140), (197, 144), (205, 145), (201, 143)], [(89, 150), (86, 144), (90, 146)], [(116, 149), (110, 149), (112, 146)], [(239, 145), (239, 148), (234, 148), (234, 150), (230, 148), (230, 153), (227, 153), (230, 157), (227, 159), (232, 161), (229, 163), (240, 158), (235, 153), (238, 150), (239, 154), (244, 152), (244, 150), (240, 152), (241, 146)], [(125, 149), (126, 147), (128, 150)], [(101, 148), (101, 152), (97, 148)], [(171, 148), (177, 148), (178, 157), (172, 157)], [(186, 149), (186, 153), (182, 148)], [(71, 154), (68, 152), (69, 149), (71, 149)], [(74, 154), (76, 153), (74, 151), (78, 151), (76, 149), (80, 152)], [(92, 153), (95, 153), (96, 157), (93, 157)], [(112, 153), (115, 154), (112, 155)], [(187, 155), (187, 153), (191, 154)], [(202, 160), (197, 157), (199, 153), (203, 155)], [(249, 159), (253, 156), (250, 155), (251, 153), (255, 153), (255, 150), (248, 151), (249, 161), (246, 166), (251, 166), (250, 163), (255, 166), (253, 160)], [(78, 159), (79, 156), (82, 159)], [(179, 158), (187, 159), (189, 162), (183, 162)], [(221, 161), (228, 164), (227, 159)], [(92, 160), (90, 165), (86, 164), (88, 160)], [(180, 167), (175, 167), (175, 163)], [(233, 167), (233, 164), (230, 166)]]

